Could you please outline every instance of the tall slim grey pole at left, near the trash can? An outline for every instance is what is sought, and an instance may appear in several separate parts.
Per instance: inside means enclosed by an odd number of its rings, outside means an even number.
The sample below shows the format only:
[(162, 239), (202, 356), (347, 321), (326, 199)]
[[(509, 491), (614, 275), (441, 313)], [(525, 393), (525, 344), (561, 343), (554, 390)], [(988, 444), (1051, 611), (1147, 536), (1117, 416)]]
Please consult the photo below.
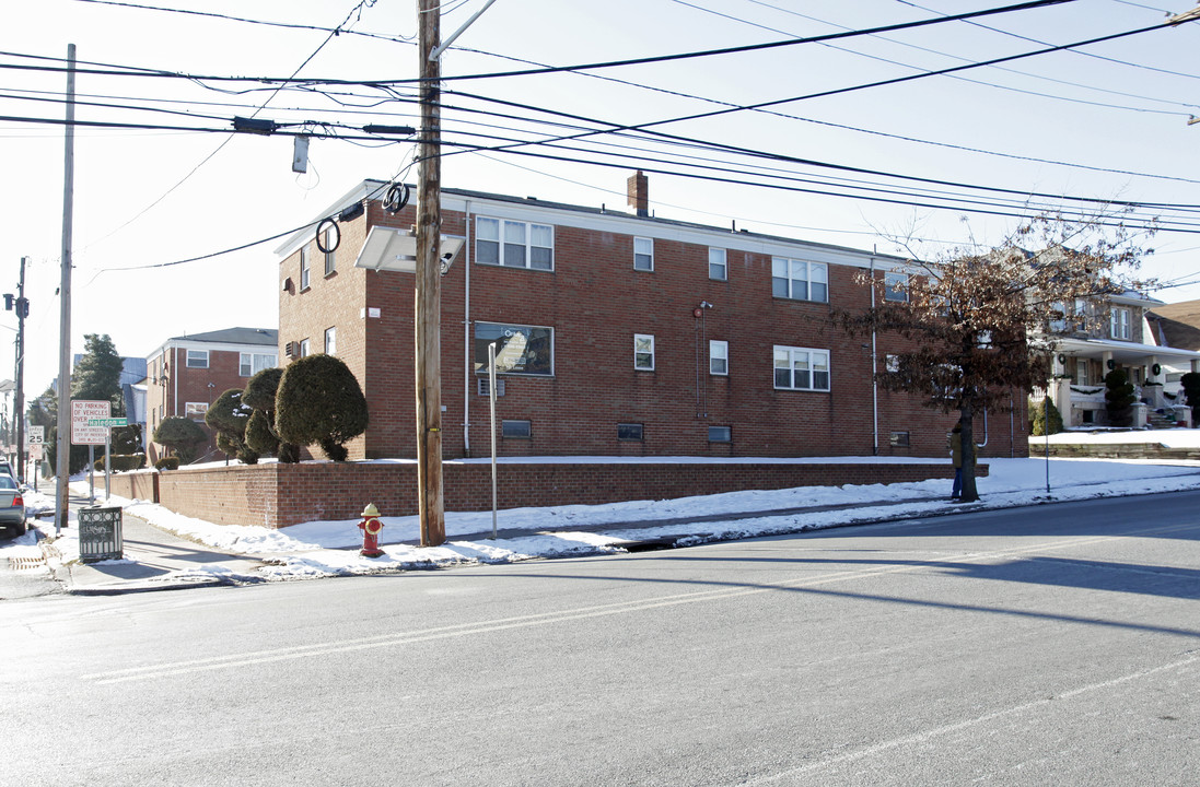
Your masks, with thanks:
[(62, 163), (62, 282), (59, 284), (59, 434), (55, 455), (54, 535), (71, 505), (71, 234), (74, 221), (74, 44), (67, 44), (66, 154)]

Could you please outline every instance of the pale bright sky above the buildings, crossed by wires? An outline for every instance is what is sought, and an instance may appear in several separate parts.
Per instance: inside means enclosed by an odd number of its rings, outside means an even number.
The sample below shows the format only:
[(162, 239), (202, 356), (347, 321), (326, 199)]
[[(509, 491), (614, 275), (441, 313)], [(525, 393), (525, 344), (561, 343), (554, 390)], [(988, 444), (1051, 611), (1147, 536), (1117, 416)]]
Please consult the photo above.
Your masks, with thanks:
[[(485, 2), (446, 0), (443, 37)], [(26, 257), (26, 396), (58, 373), (66, 145), (50, 121), (65, 118), (66, 77), (46, 68), (62, 66), (68, 44), (80, 68), (144, 70), (79, 73), (77, 121), (191, 130), (77, 127), (72, 353), (86, 334), (144, 358), (175, 336), (276, 328), (280, 241), (266, 239), (320, 218), (364, 179), (415, 182), (412, 139), (361, 127), (419, 124), (412, 84), (371, 86), (416, 76), (416, 0), (12, 5), (0, 47), (0, 208), (10, 217), (0, 292), (16, 292)], [(1003, 5), (496, 0), (443, 56), (443, 76), (695, 53)], [(1142, 274), (1168, 284), (1152, 295), (1200, 299), (1200, 222), (1190, 220), (1200, 124), (1187, 122), (1200, 114), (1200, 23), (862, 88), (1158, 25), (1190, 7), (1073, 0), (770, 49), (448, 79), (443, 185), (624, 210), (625, 179), (641, 167), (659, 217), (922, 257), (1002, 242), (1038, 210), (1111, 216), (1114, 205), (1085, 200), (1123, 200), (1142, 205), (1129, 223), (1157, 216), (1169, 228), (1136, 238), (1154, 250)], [(293, 76), (318, 82), (280, 90), (263, 80)], [(812, 94), (827, 95), (784, 102)], [(708, 116), (677, 120), (697, 114)], [(307, 172), (292, 170), (293, 137), (228, 133), (234, 116), (311, 132)], [(612, 133), (642, 124), (656, 125)], [(13, 376), (5, 340), (16, 325), (12, 312), (0, 314), (0, 379)]]

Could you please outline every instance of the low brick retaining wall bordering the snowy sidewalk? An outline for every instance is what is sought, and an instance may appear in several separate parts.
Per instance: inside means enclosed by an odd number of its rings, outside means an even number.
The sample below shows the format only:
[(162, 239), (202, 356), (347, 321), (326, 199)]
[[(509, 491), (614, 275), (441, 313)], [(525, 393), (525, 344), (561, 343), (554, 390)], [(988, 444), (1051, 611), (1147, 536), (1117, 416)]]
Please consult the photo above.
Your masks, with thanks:
[[(988, 475), (978, 465), (977, 476)], [(504, 463), (497, 465), (500, 509), (659, 500), (740, 489), (950, 479), (949, 462), (930, 463)], [(492, 507), (491, 465), (443, 464), (445, 510)], [(118, 473), (113, 494), (155, 500), (217, 524), (282, 528), (354, 519), (374, 503), (384, 516), (416, 513), (416, 465), (311, 462)], [(157, 494), (156, 494), (157, 493)]]

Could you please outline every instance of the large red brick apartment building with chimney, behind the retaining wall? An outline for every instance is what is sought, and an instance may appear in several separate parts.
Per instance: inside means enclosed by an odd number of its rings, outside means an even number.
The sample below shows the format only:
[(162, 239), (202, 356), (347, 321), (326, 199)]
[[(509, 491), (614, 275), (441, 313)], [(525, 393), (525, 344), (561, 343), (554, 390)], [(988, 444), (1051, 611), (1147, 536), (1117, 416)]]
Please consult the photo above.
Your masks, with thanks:
[[(414, 275), (355, 266), (415, 223), (413, 205), (384, 209), (385, 188), (365, 181), (322, 214), (340, 239), (326, 223), (320, 245), (306, 230), (277, 250), (281, 356), (336, 354), (366, 394), (350, 458), (416, 452)], [(874, 385), (896, 347), (829, 322), (870, 305), (858, 275), (902, 277), (904, 259), (656, 218), (641, 173), (632, 214), (442, 194), (443, 235), (464, 241), (442, 278), (446, 458), (490, 452), (492, 342), (502, 456), (946, 456), (953, 416)], [(982, 456), (1027, 455), (1024, 399), (977, 423)]]

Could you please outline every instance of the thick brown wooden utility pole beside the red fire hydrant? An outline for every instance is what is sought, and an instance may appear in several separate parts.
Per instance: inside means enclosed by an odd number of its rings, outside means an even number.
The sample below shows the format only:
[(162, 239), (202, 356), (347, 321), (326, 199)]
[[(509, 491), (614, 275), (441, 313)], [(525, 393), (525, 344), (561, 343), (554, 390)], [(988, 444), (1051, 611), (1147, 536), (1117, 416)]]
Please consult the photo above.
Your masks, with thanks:
[(416, 190), (416, 509), (421, 546), (445, 543), (442, 482), (442, 0), (418, 0), (421, 145)]

